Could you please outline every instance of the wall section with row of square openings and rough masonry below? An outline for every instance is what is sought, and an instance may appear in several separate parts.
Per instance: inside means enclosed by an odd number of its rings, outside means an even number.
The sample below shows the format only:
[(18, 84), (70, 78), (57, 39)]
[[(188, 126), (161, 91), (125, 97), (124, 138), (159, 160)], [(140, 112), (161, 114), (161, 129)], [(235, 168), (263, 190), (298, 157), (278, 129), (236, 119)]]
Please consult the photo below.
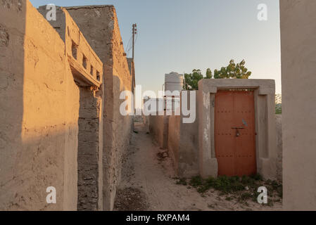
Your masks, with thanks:
[[(45, 18), (49, 12), (46, 6), (38, 11)], [(65, 41), (65, 56), (80, 86), (77, 210), (103, 210), (103, 63), (65, 8), (57, 6), (56, 20), (49, 23)]]

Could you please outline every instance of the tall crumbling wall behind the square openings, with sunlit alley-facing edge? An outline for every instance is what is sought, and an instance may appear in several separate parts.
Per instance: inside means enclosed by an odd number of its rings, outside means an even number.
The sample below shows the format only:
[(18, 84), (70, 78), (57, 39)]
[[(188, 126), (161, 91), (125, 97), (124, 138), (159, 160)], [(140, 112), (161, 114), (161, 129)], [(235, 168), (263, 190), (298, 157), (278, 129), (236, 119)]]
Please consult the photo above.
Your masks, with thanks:
[(132, 116), (120, 115), (120, 92), (132, 89), (118, 19), (113, 6), (67, 7), (103, 62), (103, 209), (112, 210), (120, 181), (122, 154), (129, 146)]

